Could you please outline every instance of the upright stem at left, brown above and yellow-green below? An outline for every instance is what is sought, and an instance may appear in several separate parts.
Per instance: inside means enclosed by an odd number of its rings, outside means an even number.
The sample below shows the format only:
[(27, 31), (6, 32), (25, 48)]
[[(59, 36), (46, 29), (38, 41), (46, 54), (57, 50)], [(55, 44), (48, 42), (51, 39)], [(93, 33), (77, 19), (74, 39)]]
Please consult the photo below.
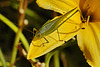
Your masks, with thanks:
[(16, 55), (17, 55), (17, 48), (16, 45), (19, 43), (20, 41), (20, 34), (22, 32), (22, 29), (24, 27), (24, 18), (25, 18), (25, 9), (27, 8), (27, 0), (20, 0), (19, 1), (19, 29), (16, 33), (15, 36), (15, 41), (14, 41), (14, 45), (13, 45), (13, 52), (12, 52), (12, 57), (11, 57), (11, 66), (14, 65), (15, 60), (16, 60)]

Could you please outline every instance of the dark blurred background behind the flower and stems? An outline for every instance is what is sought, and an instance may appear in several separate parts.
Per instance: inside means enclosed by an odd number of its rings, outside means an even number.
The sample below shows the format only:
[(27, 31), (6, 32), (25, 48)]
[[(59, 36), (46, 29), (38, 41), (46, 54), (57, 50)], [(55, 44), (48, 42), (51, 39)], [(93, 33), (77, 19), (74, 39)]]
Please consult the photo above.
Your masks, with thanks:
[[(18, 5), (18, 0), (0, 0), (0, 13), (8, 18), (10, 21), (12, 21), (16, 26), (18, 25), (19, 18)], [(27, 26), (25, 26), (25, 28), (30, 31), (33, 31), (33, 28), (36, 28), (38, 30), (47, 20), (52, 19), (56, 15), (60, 14), (51, 10), (42, 9), (36, 4), (35, 0), (29, 0), (25, 15), (25, 19), (27, 19), (29, 23)], [(33, 38), (33, 33), (30, 33), (26, 29), (23, 29), (23, 34), (30, 43)], [(5, 23), (0, 20), (0, 48), (7, 62), (10, 62), (11, 60), (14, 38), (15, 32), (13, 32), (13, 30), (11, 30)], [(70, 41), (68, 41), (68, 43), (65, 43), (64, 45), (68, 46), (59, 50), (61, 67), (64, 67), (64, 64), (67, 65), (67, 67), (90, 67), (86, 63), (82, 52), (77, 46), (76, 40), (71, 39)], [(45, 56), (41, 56), (37, 59), (40, 62), (45, 62)], [(29, 61), (27, 61), (26, 58), (20, 56), (20, 53), (18, 51), (15, 66), (31, 67), (31, 64)], [(54, 67), (53, 58), (50, 61), (50, 67)]]

